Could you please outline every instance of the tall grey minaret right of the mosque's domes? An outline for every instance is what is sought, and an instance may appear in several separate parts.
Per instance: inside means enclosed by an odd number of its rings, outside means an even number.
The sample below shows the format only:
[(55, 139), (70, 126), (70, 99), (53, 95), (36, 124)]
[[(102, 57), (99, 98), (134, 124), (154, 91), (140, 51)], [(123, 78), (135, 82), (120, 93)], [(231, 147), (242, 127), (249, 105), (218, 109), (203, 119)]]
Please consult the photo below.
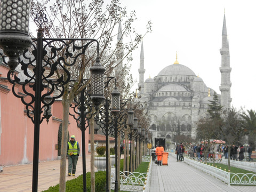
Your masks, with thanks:
[(230, 98), (230, 55), (229, 55), (229, 43), (227, 37), (227, 27), (226, 27), (226, 17), (224, 14), (223, 20), (223, 28), (222, 28), (222, 47), (220, 49), (221, 54), (221, 84), (220, 84), (220, 104), (224, 109), (230, 109), (230, 102), (232, 99)]

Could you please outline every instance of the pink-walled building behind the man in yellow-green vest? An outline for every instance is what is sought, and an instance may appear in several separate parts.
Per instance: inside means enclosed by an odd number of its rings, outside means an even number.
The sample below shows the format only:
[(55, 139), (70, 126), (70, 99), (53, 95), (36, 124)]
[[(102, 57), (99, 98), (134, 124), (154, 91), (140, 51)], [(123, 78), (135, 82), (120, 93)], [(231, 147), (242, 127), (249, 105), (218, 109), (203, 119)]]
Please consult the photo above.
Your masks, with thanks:
[[(1, 59), (1, 58), (0, 58)], [(33, 162), (34, 124), (27, 116), (25, 105), (12, 93), (7, 79), (9, 67), (0, 60), (0, 164), (15, 165)], [(18, 74), (18, 72), (17, 72)], [(16, 87), (15, 89), (19, 89)], [(52, 117), (40, 126), (39, 161), (58, 158), (61, 142), (62, 103), (52, 105)], [(69, 117), (69, 135), (76, 135), (82, 151), (81, 130), (73, 117)], [(59, 138), (59, 139), (58, 139)], [(85, 132), (85, 151), (88, 153), (89, 129)], [(60, 148), (60, 147), (59, 147)], [(81, 154), (82, 155), (82, 152)]]

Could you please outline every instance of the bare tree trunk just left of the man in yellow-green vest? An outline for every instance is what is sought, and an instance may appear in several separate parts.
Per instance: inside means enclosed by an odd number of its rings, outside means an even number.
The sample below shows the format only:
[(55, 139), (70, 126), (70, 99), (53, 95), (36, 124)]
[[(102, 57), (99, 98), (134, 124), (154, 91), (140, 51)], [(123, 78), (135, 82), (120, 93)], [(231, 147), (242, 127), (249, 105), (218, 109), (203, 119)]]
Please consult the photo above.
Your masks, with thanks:
[(63, 99), (63, 121), (62, 121), (62, 135), (61, 135), (61, 149), (60, 149), (60, 192), (66, 191), (66, 156), (67, 156), (67, 140), (68, 140), (68, 119), (69, 119), (70, 103)]

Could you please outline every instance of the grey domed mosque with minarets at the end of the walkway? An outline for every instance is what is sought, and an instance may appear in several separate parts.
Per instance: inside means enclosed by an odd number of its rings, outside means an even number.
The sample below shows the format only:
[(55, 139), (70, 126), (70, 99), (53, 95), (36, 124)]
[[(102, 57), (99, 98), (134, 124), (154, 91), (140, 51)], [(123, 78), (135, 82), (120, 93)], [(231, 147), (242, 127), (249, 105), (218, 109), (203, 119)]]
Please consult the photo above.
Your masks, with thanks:
[[(230, 108), (230, 55), (227, 38), (226, 18), (224, 15), (222, 28), (221, 84), (217, 94), (220, 104)], [(147, 114), (150, 119), (149, 129), (154, 138), (161, 137), (173, 140), (174, 135), (196, 136), (196, 123), (207, 112), (209, 101), (213, 100), (214, 90), (208, 87), (194, 71), (177, 60), (159, 71), (154, 78), (144, 81), (143, 44), (140, 53), (139, 101), (147, 102)]]

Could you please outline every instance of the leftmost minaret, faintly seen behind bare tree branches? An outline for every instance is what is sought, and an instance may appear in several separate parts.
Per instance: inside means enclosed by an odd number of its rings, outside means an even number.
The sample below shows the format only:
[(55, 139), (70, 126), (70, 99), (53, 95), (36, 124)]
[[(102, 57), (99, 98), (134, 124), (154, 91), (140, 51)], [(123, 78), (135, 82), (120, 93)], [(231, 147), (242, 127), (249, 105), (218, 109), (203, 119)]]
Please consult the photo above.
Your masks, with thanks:
[(115, 73), (116, 77), (122, 77), (123, 76), (123, 34), (122, 34), (122, 25), (121, 21), (119, 21), (118, 25), (118, 34), (117, 34), (117, 51), (116, 51), (116, 65)]

